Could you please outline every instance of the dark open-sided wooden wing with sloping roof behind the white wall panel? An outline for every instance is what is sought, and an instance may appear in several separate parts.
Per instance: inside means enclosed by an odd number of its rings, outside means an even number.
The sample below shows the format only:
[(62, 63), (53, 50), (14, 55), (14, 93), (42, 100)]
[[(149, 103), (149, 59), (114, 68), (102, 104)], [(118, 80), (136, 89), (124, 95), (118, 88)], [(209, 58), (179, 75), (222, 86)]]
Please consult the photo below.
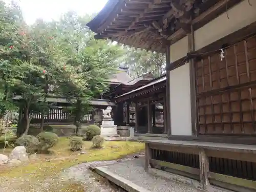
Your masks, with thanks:
[(124, 104), (126, 128), (134, 126), (137, 139), (167, 138), (165, 87), (166, 76), (163, 75), (114, 97), (116, 103)]

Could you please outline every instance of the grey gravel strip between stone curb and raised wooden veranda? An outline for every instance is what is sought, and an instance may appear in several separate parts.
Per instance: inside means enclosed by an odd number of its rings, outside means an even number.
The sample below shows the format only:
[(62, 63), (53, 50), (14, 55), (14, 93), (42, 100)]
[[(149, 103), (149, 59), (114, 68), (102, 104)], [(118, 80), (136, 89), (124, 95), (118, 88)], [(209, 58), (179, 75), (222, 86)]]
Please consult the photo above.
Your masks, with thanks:
[(201, 192), (201, 190), (186, 184), (163, 179), (150, 173), (146, 173), (144, 165), (145, 159), (138, 158), (121, 163), (115, 163), (107, 166), (107, 168), (118, 176), (152, 192)]

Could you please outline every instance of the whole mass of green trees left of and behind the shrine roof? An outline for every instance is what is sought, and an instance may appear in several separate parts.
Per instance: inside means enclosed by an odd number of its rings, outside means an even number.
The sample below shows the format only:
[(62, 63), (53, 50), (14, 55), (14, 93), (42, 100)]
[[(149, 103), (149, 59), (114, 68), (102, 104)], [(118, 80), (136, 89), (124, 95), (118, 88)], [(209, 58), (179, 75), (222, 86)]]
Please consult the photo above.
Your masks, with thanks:
[[(44, 114), (51, 108), (49, 95), (67, 98), (73, 122), (91, 109), (89, 100), (108, 90), (107, 80), (120, 63), (132, 76), (147, 71), (163, 72), (164, 56), (123, 48), (109, 40), (96, 40), (86, 26), (91, 16), (69, 12), (58, 21), (25, 24), (20, 8), (0, 0), (0, 119), (8, 110), (24, 111), (17, 136), (28, 134), (29, 114)], [(155, 66), (155, 67), (154, 67)], [(157, 66), (157, 67), (156, 67)], [(19, 96), (19, 101), (13, 100)], [(41, 131), (44, 122), (41, 122)]]

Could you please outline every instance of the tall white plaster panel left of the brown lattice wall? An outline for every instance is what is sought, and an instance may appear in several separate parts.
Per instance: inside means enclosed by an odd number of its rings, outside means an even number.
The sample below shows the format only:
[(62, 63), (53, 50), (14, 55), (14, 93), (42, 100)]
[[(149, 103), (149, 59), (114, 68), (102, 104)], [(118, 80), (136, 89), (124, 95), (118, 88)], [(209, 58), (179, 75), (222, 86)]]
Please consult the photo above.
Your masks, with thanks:
[(192, 135), (189, 63), (169, 73), (172, 135)]

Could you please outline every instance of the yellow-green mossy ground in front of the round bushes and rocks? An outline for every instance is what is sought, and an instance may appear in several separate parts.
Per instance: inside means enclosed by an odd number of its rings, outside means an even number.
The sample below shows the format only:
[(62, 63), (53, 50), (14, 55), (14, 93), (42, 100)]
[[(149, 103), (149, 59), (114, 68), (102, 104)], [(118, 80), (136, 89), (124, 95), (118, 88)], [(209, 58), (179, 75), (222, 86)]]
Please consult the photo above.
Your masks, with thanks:
[[(61, 172), (61, 170), (67, 169), (73, 165), (83, 162), (115, 160), (144, 150), (144, 143), (132, 141), (106, 141), (104, 143), (104, 148), (101, 149), (92, 149), (91, 146), (92, 142), (84, 141), (84, 154), (80, 152), (71, 152), (69, 150), (69, 139), (62, 137), (58, 144), (51, 148), (51, 155), (37, 154), (37, 158), (31, 159), (29, 162), (22, 165), (16, 167), (0, 167), (0, 181), (1, 178), (10, 181), (22, 178), (26, 181), (26, 185), (19, 186), (18, 188), (24, 188), (24, 191), (29, 191), (31, 187), (29, 187), (27, 182), (33, 185), (35, 182), (54, 178)], [(10, 151), (11, 149), (7, 149), (5, 153)], [(0, 153), (3, 153), (3, 151), (1, 150)], [(65, 186), (67, 186), (67, 188), (71, 187), (77, 189), (68, 191), (81, 191), (79, 183), (72, 185), (67, 184)], [(12, 192), (12, 190), (9, 191)], [(56, 191), (63, 190), (59, 189)]]

